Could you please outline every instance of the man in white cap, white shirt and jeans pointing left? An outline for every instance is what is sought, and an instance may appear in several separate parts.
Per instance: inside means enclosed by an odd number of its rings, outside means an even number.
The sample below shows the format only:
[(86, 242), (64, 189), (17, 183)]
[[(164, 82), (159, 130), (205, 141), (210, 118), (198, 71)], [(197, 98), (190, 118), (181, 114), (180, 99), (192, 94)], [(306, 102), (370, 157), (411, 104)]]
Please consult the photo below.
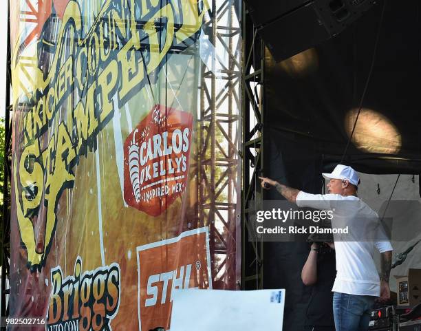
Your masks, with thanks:
[[(330, 180), (329, 194), (323, 195), (292, 189), (270, 178), (260, 179), (264, 188), (274, 186), (286, 200), (299, 207), (331, 210), (332, 228), (338, 224), (353, 224), (360, 229), (368, 223), (379, 223), (376, 212), (356, 194), (360, 180), (354, 169), (338, 164), (332, 173), (323, 173), (323, 176)], [(373, 259), (376, 249), (381, 254), (380, 279)], [(374, 300), (390, 298), (391, 244), (387, 239), (376, 238), (344, 240), (335, 241), (335, 250), (337, 273), (332, 291), (336, 331), (366, 331)]]

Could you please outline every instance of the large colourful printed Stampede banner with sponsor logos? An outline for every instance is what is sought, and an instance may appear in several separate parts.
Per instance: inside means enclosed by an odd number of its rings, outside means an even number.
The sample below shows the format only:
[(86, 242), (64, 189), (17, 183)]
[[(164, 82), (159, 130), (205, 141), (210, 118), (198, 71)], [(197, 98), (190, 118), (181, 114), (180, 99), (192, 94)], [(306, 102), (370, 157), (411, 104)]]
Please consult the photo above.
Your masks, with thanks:
[(10, 6), (10, 316), (44, 318), (33, 330), (169, 330), (172, 290), (215, 277), (192, 166), (210, 6)]

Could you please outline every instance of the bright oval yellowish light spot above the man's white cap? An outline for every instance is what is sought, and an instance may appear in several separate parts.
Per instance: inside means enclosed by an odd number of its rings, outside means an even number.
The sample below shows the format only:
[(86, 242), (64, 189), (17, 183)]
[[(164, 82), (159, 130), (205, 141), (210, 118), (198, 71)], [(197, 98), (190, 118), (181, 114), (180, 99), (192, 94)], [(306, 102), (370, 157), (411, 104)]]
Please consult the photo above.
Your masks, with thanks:
[[(356, 120), (358, 109), (351, 109), (345, 116), (348, 137)], [(363, 108), (352, 135), (354, 145), (367, 153), (396, 154), (402, 147), (402, 136), (395, 125), (378, 111)]]

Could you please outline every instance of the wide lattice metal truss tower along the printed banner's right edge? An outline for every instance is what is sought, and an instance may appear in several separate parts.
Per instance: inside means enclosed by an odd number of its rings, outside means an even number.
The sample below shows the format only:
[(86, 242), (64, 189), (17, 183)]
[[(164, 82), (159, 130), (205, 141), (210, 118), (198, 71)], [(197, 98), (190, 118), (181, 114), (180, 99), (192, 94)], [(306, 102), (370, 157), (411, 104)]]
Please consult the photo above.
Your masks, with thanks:
[(239, 284), (235, 253), (241, 246), (231, 235), (239, 222), (241, 176), (241, 10), (237, 5), (233, 0), (213, 0), (203, 28), (216, 52), (212, 65), (203, 64), (201, 72), (198, 215), (199, 222), (209, 227), (213, 288), (235, 288)]

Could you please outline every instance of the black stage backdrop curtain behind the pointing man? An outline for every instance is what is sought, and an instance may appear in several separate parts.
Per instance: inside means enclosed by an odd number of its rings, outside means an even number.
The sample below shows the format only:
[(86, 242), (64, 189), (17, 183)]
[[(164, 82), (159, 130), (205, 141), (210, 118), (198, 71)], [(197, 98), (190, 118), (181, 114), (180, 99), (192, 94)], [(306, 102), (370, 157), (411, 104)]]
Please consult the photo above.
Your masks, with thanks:
[[(358, 123), (368, 123), (368, 131), (358, 133), (363, 145), (352, 142), (343, 162), (357, 171), (420, 173), (418, 2), (385, 2), (374, 68), (363, 100), (363, 107), (375, 112), (362, 113)], [(266, 52), (265, 176), (303, 191), (321, 193), (321, 172), (332, 171), (347, 145), (345, 120), (350, 109), (358, 109), (360, 104), (383, 3), (380, 1), (336, 38), (301, 57), (276, 64)], [(302, 67), (306, 69), (301, 70)], [(382, 116), (391, 123), (394, 133), (392, 130), (382, 136), (384, 132), (380, 132), (379, 138), (378, 130), (383, 130), (380, 126), (371, 136), (369, 130), (382, 121)], [(270, 190), (266, 199), (280, 197)], [(263, 286), (286, 289), (284, 330), (302, 330), (309, 288), (301, 283), (301, 268), (308, 250), (308, 244), (303, 242), (265, 244)]]

